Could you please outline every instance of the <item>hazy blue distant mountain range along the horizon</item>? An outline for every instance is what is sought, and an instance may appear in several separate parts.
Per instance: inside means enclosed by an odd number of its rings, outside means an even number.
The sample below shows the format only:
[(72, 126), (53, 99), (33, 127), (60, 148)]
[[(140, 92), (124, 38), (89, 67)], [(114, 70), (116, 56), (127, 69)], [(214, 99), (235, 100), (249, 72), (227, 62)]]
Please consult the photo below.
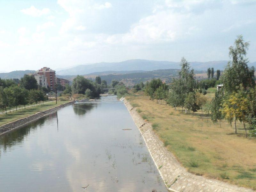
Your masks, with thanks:
[[(189, 62), (190, 67), (197, 71), (206, 71), (207, 68), (214, 68), (223, 70), (228, 61), (208, 61), (208, 62)], [(248, 63), (248, 66), (256, 67), (256, 62)], [(51, 66), (48, 66), (51, 68)], [(172, 61), (154, 61), (154, 60), (126, 60), (122, 62), (101, 62), (87, 65), (78, 65), (70, 68), (64, 68), (56, 70), (56, 75), (66, 76), (67, 78), (76, 75), (90, 75), (90, 76), (106, 76), (111, 74), (131, 74), (131, 73), (143, 73), (146, 71), (154, 71), (159, 69), (180, 69), (180, 62)], [(9, 73), (0, 73), (0, 78), (18, 78), (24, 76), (24, 74), (33, 73), (34, 70), (24, 71), (12, 71)], [(145, 74), (144, 74), (145, 75)], [(64, 77), (62, 77), (64, 78)]]

